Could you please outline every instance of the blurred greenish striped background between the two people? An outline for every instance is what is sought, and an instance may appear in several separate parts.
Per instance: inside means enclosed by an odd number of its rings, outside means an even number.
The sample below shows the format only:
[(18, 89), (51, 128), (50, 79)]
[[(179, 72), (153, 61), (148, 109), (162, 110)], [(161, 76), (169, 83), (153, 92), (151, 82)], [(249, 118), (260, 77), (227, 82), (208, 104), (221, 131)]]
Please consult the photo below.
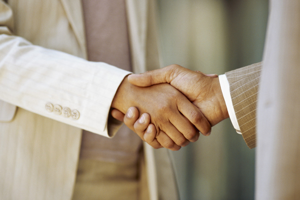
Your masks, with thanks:
[[(157, 0), (163, 65), (223, 74), (262, 59), (267, 0)], [(230, 119), (170, 151), (181, 199), (254, 199), (255, 149)]]

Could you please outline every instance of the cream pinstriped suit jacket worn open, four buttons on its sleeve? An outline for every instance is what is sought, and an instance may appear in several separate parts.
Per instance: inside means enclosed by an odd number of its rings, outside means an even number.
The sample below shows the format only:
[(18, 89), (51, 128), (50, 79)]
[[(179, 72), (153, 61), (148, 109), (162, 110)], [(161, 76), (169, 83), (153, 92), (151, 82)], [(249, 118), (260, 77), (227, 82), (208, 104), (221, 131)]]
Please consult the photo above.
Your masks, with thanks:
[[(152, 0), (126, 7), (134, 72), (158, 67)], [(2, 0), (0, 33), (0, 199), (70, 199), (81, 129), (113, 136), (120, 124), (108, 112), (129, 72), (84, 59), (80, 0)], [(48, 112), (47, 103), (79, 118)], [(176, 199), (167, 152), (145, 145), (145, 154), (150, 198)]]

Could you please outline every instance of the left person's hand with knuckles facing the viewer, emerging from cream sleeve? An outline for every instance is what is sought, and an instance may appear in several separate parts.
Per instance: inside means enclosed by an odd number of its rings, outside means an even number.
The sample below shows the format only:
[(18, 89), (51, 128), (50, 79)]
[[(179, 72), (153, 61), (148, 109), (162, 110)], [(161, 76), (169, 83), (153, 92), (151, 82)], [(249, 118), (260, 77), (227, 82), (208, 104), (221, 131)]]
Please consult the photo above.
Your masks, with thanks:
[(151, 115), (151, 123), (155, 125), (157, 132), (158, 144), (153, 146), (156, 148), (161, 144), (163, 147), (178, 150), (189, 141), (196, 141), (199, 133), (193, 124), (205, 133), (211, 129), (200, 110), (169, 84), (138, 87), (124, 78), (111, 107), (125, 113), (129, 106), (137, 107), (140, 113), (147, 112)]

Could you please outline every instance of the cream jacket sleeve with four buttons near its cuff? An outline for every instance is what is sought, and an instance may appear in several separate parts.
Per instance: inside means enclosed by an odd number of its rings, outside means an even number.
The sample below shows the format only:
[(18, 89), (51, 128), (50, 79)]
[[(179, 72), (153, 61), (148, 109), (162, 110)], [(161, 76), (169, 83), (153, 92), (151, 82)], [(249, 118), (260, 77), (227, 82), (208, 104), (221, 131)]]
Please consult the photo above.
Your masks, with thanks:
[(33, 45), (11, 32), (12, 11), (0, 1), (0, 100), (112, 136), (116, 128), (107, 125), (110, 104), (130, 72)]

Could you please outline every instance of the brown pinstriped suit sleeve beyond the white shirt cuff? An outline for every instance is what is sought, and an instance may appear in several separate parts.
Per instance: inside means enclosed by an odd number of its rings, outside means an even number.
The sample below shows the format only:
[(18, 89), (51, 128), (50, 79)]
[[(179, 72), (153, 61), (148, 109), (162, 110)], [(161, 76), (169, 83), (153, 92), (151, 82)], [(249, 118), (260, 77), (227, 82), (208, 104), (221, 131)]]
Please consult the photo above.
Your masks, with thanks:
[(236, 119), (247, 146), (256, 146), (256, 101), (262, 62), (225, 73)]

